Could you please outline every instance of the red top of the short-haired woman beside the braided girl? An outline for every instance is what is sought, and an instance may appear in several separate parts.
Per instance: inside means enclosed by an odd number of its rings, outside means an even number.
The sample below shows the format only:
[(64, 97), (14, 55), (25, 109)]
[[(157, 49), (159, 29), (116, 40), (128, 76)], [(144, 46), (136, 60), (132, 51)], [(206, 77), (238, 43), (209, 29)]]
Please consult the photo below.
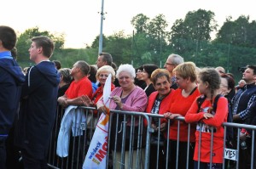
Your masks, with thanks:
[[(196, 88), (193, 93), (191, 93), (187, 98), (184, 98), (182, 95), (182, 89), (177, 88), (172, 96), (169, 111), (173, 114), (185, 116), (191, 104), (193, 104), (199, 95), (199, 90)], [(177, 123), (178, 121), (173, 121), (170, 126), (169, 139), (177, 140)], [(180, 121), (179, 141), (188, 141), (188, 129), (189, 125), (184, 121)], [(190, 142), (195, 142), (195, 125), (193, 124), (190, 126)]]

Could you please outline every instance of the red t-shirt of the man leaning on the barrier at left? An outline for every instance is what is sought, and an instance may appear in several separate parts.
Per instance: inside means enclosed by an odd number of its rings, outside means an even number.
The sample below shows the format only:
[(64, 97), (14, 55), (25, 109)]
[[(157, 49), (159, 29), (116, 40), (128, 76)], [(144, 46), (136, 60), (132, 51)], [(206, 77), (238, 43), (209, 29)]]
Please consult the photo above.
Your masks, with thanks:
[(75, 99), (82, 95), (92, 96), (92, 86), (87, 76), (84, 76), (79, 82), (71, 82), (65, 93), (68, 99)]

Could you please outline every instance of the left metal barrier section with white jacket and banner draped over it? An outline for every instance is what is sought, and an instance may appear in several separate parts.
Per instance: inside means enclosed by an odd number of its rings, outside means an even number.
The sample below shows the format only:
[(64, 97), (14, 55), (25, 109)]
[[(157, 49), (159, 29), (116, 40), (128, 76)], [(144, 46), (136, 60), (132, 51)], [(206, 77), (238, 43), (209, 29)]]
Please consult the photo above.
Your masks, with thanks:
[[(62, 158), (56, 155), (56, 147), (64, 110), (59, 109), (57, 111), (55, 126), (49, 144), (48, 164), (50, 168), (82, 168), (100, 115), (95, 108), (79, 107), (79, 109), (81, 108), (84, 109), (86, 117), (86, 123), (82, 124), (84, 133), (79, 137), (73, 137), (71, 133), (68, 156)], [(113, 117), (116, 120), (115, 123), (113, 123)], [(144, 112), (111, 110), (108, 127), (108, 149), (112, 148), (113, 150), (108, 150), (107, 168), (148, 168), (149, 132), (151, 128), (150, 125), (145, 127), (144, 121), (150, 124), (148, 115)], [(127, 122), (130, 123), (130, 126), (127, 125)], [(120, 125), (118, 125), (119, 123)], [(112, 132), (115, 134), (113, 135)], [(121, 142), (118, 142), (120, 133)], [(121, 149), (117, 147), (121, 147)], [(119, 160), (118, 157), (120, 157)]]

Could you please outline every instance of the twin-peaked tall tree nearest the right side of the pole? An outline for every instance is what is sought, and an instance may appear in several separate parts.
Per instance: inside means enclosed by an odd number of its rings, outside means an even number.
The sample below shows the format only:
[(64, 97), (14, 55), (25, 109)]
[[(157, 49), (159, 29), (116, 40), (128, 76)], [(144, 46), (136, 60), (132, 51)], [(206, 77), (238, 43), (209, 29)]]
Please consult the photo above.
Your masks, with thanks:
[[(132, 50), (135, 57), (134, 63), (155, 65), (160, 64), (162, 55), (167, 48), (166, 39), (168, 23), (164, 14), (156, 15), (152, 20), (143, 14), (137, 14), (131, 20), (136, 34), (132, 38)], [(137, 66), (139, 66), (136, 64)]]

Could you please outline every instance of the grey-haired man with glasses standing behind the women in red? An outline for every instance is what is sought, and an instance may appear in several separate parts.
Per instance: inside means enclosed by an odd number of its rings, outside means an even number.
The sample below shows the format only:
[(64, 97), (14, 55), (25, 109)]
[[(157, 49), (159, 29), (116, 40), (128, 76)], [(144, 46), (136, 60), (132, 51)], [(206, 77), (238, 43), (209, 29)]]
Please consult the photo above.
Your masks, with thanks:
[(172, 72), (172, 70), (174, 70), (174, 68), (177, 65), (180, 65), (184, 62), (183, 57), (181, 57), (178, 54), (170, 54), (168, 56), (168, 58), (166, 59), (166, 64), (164, 65), (164, 67), (166, 68), (166, 70), (168, 70), (171, 74), (171, 81), (172, 81), (172, 86), (171, 88), (173, 89), (177, 89), (177, 82), (176, 82), (176, 78)]

